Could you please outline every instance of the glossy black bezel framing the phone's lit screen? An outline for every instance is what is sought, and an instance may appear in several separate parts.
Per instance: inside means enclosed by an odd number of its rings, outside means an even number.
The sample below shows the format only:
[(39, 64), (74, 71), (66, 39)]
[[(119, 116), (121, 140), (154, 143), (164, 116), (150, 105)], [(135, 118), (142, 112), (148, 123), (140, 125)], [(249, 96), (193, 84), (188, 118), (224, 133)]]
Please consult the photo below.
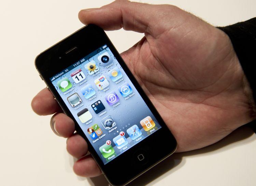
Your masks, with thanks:
[[(127, 76), (132, 81), (134, 87), (138, 90), (139, 94), (144, 99), (145, 103), (147, 104), (148, 108), (152, 111), (156, 119), (159, 121), (161, 128), (155, 131), (153, 134), (142, 140), (140, 143), (136, 144), (132, 148), (128, 149), (124, 153), (117, 156), (114, 160), (108, 162), (108, 164), (104, 165), (101, 158), (98, 156), (97, 152), (91, 145), (88, 138), (83, 133), (82, 129), (80, 128), (79, 124), (76, 123), (73, 115), (69, 111), (66, 104), (63, 102), (62, 98), (56, 91), (55, 87), (53, 86), (50, 78), (62, 71), (63, 69), (67, 68), (68, 66), (72, 65), (77, 60), (80, 60), (84, 56), (87, 56), (89, 53), (95, 51), (99, 47), (103, 46), (104, 44), (108, 45), (114, 56), (116, 57), (117, 61), (120, 63), (124, 71), (126, 72)], [(77, 47), (76, 50), (72, 52), (65, 53), (66, 51), (70, 50), (72, 47)], [(102, 172), (108, 179), (108, 181), (113, 185), (123, 185), (130, 182), (135, 177), (139, 176), (146, 170), (150, 169), (152, 166), (156, 165), (162, 159), (171, 155), (177, 147), (177, 143), (173, 135), (171, 134), (169, 128), (166, 126), (165, 122), (157, 112), (156, 108), (153, 106), (150, 99), (146, 96), (144, 91), (142, 90), (141, 86), (135, 79), (135, 77), (130, 72), (129, 68), (123, 61), (122, 57), (120, 57), (119, 53), (117, 52), (116, 48), (113, 46), (111, 41), (109, 40), (106, 33), (96, 25), (87, 25), (80, 30), (76, 31), (75, 33), (71, 34), (70, 36), (66, 37), (59, 43), (55, 44), (54, 46), (48, 48), (44, 52), (40, 53), (35, 59), (35, 66), (40, 73), (42, 79), (47, 84), (48, 89), (52, 92), (55, 99), (61, 106), (62, 110), (74, 120), (75, 122), (75, 129), (77, 133), (79, 133), (88, 143), (88, 149), (91, 155), (95, 158), (97, 164), (101, 168)], [(161, 143), (164, 141), (164, 143)], [(166, 143), (168, 142), (168, 143)], [(150, 144), (150, 145), (149, 145)], [(148, 160), (147, 163), (144, 165), (140, 165), (139, 168), (135, 170), (131, 168), (131, 164), (136, 163), (134, 160), (134, 152), (143, 152), (150, 151), (150, 146), (154, 146), (155, 149), (159, 150), (158, 153), (151, 153), (150, 162)], [(168, 148), (166, 148), (168, 146)], [(147, 149), (147, 150), (145, 150)], [(149, 152), (148, 152), (149, 153)], [(127, 158), (132, 157), (132, 158)], [(129, 174), (122, 175), (120, 172), (116, 171), (114, 175), (111, 173), (113, 169), (117, 169), (120, 165), (124, 166), (126, 169), (125, 172), (129, 172)], [(133, 167), (134, 168), (134, 167)]]

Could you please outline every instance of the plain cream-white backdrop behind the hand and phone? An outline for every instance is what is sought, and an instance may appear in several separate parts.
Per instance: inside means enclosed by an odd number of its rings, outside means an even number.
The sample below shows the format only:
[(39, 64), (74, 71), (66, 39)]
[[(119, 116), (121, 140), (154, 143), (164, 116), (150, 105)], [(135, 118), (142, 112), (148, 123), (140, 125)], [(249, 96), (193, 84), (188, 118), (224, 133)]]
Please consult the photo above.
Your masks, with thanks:
[[(30, 102), (46, 85), (34, 68), (35, 57), (83, 25), (77, 13), (111, 2), (85, 0), (0, 1), (0, 185), (105, 186), (103, 176), (86, 179), (72, 171), (74, 159), (66, 139), (49, 127), (50, 116), (33, 113)], [(255, 0), (145, 0), (168, 3), (225, 26), (256, 16)], [(143, 36), (124, 30), (108, 32), (119, 52)], [(88, 43), (89, 45), (89, 43)], [(256, 135), (240, 128), (207, 148), (174, 154), (131, 185), (240, 186), (256, 183)], [(115, 171), (123, 171), (120, 166)]]

